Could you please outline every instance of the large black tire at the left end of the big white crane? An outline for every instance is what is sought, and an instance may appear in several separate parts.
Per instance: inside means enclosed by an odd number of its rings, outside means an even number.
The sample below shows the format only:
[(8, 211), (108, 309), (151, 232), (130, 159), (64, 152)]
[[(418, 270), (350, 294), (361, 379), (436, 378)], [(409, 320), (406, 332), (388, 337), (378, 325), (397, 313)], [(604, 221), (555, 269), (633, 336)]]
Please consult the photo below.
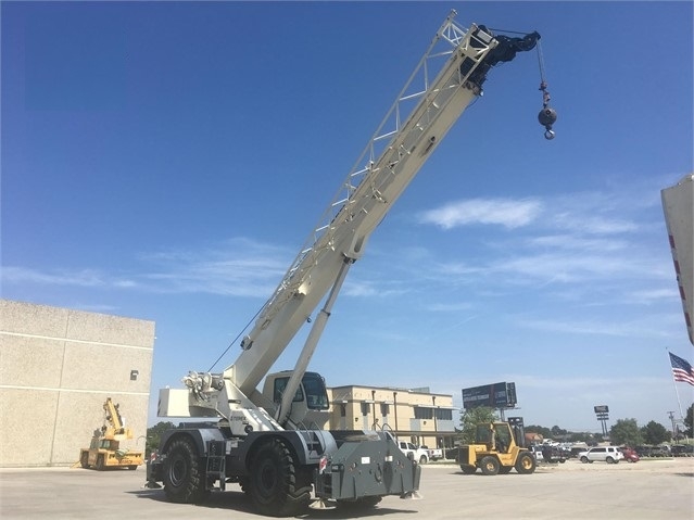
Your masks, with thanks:
[(177, 504), (200, 504), (207, 495), (205, 467), (191, 440), (172, 442), (164, 461), (164, 493)]

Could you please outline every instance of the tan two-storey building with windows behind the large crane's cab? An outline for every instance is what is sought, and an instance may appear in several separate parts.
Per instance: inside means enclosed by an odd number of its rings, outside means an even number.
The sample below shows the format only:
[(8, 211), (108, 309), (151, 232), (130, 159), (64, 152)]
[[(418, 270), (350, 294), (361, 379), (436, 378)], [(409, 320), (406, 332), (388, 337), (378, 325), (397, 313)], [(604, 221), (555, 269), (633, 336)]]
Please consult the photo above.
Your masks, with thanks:
[(390, 430), (401, 441), (452, 447), (459, 422), (453, 396), (429, 389), (336, 386), (328, 389), (330, 429)]

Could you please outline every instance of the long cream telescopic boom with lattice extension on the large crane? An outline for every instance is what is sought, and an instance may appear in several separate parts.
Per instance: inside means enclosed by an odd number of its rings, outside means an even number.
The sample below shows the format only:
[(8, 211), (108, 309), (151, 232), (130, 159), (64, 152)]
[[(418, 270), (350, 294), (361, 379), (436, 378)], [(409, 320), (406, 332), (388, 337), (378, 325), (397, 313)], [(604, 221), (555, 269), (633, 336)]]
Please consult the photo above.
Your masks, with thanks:
[[(306, 244), (243, 340), (235, 365), (248, 395), (267, 373), (332, 286), (345, 258), (358, 259), (366, 242), (463, 111), (481, 94), (475, 72), (497, 41), (449, 16), (395, 103), (373, 136)], [(439, 51), (440, 43), (447, 48)], [(432, 63), (446, 61), (436, 78)], [(465, 63), (465, 65), (464, 65)], [(417, 104), (405, 118), (404, 112)]]

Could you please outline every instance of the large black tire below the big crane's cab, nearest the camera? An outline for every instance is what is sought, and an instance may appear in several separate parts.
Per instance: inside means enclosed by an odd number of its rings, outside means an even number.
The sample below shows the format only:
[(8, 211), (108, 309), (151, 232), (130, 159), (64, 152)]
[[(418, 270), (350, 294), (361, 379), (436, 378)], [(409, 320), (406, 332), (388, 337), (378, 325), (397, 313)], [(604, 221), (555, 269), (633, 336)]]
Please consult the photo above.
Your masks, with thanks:
[(248, 493), (261, 515), (293, 517), (308, 507), (310, 474), (298, 468), (283, 440), (270, 439), (260, 445), (250, 470)]

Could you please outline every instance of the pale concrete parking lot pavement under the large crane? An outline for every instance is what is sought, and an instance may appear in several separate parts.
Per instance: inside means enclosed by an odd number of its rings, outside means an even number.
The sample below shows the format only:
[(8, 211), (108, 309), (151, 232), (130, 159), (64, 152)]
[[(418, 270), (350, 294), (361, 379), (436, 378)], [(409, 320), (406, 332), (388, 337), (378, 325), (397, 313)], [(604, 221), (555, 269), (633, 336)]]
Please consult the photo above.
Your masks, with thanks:
[[(169, 504), (148, 490), (144, 468), (93, 471), (81, 468), (0, 470), (2, 519), (190, 519), (262, 518), (239, 487), (215, 493), (201, 506)], [(691, 519), (694, 458), (638, 464), (540, 465), (521, 475), (464, 475), (454, 465), (422, 466), (422, 499), (387, 497), (362, 518)], [(301, 518), (355, 518), (353, 511), (310, 510)]]

